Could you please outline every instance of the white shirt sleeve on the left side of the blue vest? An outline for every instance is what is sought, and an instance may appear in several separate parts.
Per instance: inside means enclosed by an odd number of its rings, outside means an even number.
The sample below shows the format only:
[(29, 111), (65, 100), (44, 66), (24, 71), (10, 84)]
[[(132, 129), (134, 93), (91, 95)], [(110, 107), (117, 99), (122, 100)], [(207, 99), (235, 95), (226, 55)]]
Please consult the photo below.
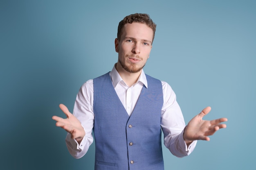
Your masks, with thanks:
[(85, 137), (78, 144), (75, 139), (71, 138), (70, 133), (67, 133), (65, 141), (70, 154), (74, 158), (79, 159), (87, 153), (89, 146), (93, 142), (93, 80), (88, 80), (79, 89), (74, 104), (73, 115), (81, 122), (85, 130)]

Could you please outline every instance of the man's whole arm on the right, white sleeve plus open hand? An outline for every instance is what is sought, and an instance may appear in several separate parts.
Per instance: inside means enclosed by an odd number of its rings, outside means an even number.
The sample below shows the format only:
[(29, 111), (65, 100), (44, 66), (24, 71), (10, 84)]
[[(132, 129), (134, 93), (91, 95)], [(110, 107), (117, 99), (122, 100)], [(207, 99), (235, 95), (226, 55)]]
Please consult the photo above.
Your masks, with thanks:
[(177, 157), (189, 155), (195, 148), (197, 140), (209, 141), (209, 135), (226, 128), (227, 118), (216, 120), (202, 120), (211, 111), (211, 107), (206, 107), (195, 116), (187, 126), (180, 107), (176, 101), (176, 95), (166, 82), (162, 82), (164, 105), (162, 108), (161, 126), (164, 133), (164, 144)]

